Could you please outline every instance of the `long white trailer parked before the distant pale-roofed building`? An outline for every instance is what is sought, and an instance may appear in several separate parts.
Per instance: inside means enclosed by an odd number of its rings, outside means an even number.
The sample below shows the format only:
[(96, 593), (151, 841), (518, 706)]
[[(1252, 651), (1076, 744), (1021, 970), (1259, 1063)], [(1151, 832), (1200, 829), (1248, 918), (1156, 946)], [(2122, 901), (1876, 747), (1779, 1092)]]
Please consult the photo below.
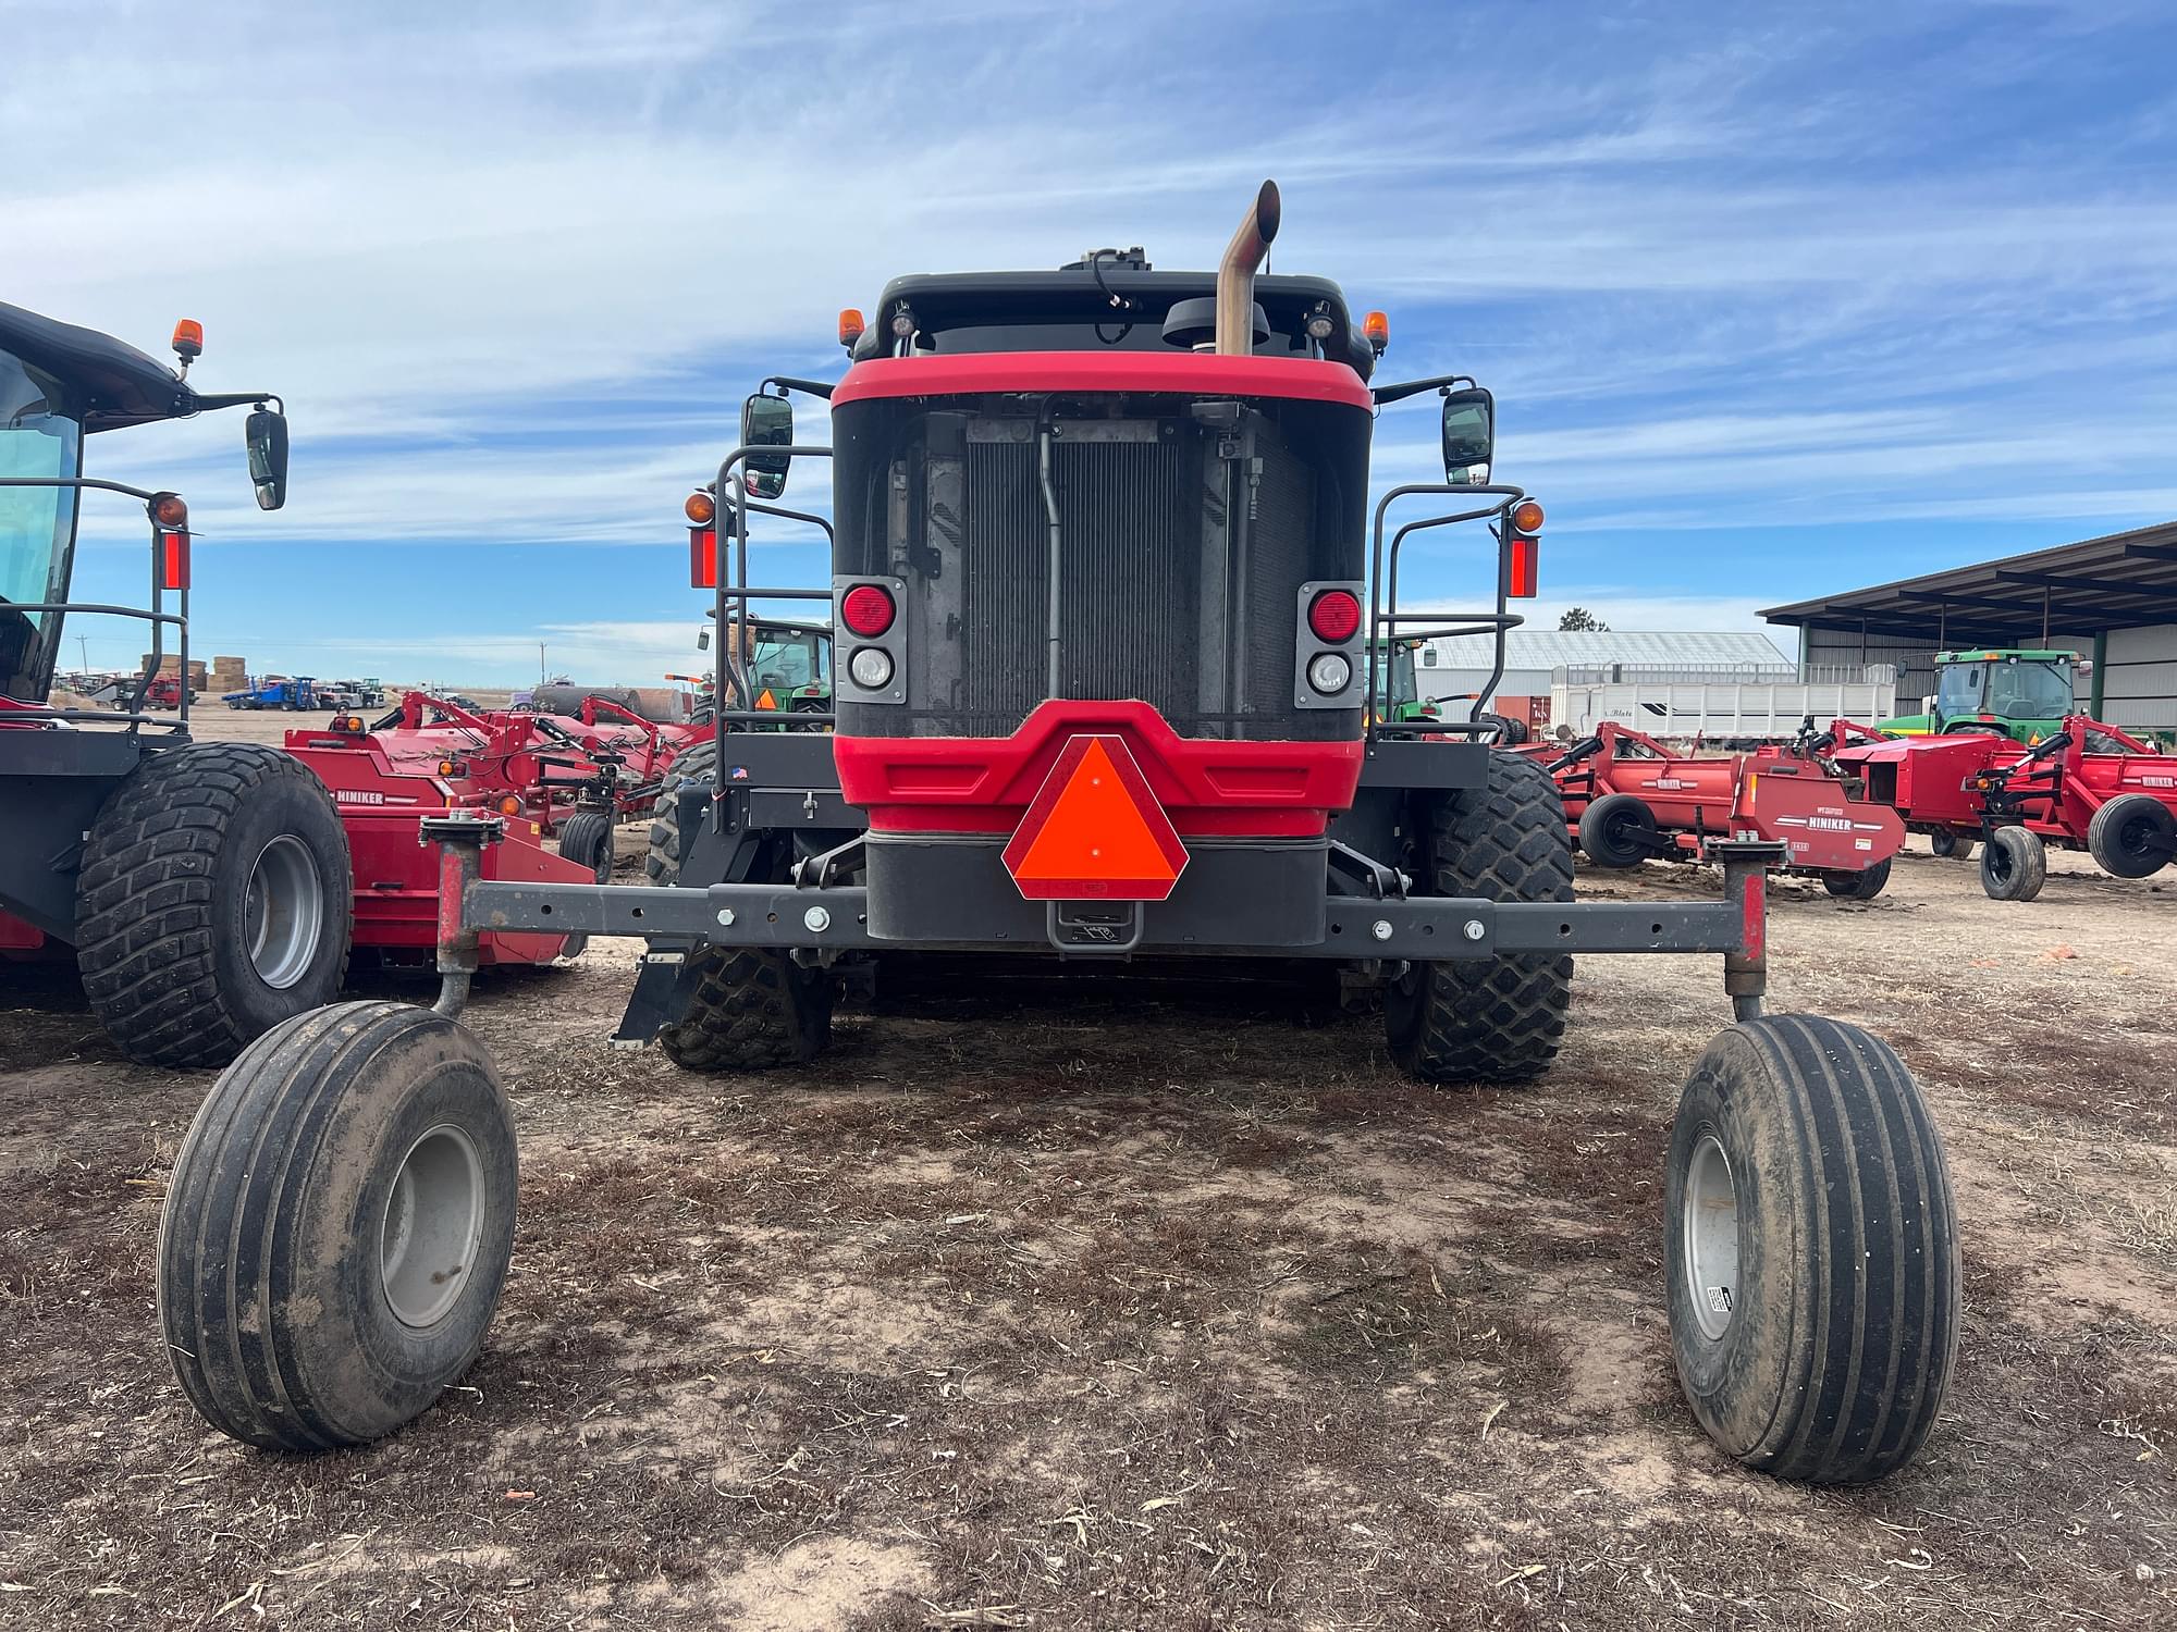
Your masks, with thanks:
[(1835, 670), (1816, 679), (1700, 675), (1596, 675), (1559, 668), (1550, 675), (1550, 731), (1585, 738), (1598, 725), (1644, 731), (1670, 742), (1700, 738), (1709, 746), (1789, 742), (1809, 714), (1816, 725), (1859, 720), (1872, 725), (1898, 712), (1896, 670), (1874, 664), (1848, 677)]

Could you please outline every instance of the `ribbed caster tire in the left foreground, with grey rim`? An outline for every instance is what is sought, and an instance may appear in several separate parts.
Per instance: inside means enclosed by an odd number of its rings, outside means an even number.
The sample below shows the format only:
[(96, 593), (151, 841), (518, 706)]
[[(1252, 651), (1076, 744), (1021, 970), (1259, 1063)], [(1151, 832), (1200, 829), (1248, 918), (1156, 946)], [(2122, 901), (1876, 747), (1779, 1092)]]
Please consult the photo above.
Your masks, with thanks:
[(422, 1414), (483, 1347), (516, 1177), (499, 1073), (453, 1021), (340, 1003), (261, 1036), (196, 1112), (159, 1219), (189, 1404), (268, 1451)]

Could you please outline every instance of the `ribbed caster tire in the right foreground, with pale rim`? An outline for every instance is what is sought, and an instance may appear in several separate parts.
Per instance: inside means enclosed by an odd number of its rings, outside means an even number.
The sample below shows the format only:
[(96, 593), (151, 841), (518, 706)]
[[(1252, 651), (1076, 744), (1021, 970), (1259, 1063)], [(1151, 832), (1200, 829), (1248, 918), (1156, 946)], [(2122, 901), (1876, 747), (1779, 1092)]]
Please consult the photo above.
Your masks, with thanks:
[(1678, 1097), (1663, 1273), (1702, 1430), (1781, 1480), (1914, 1458), (1957, 1356), (1957, 1219), (1905, 1062), (1811, 1014), (1720, 1034)]

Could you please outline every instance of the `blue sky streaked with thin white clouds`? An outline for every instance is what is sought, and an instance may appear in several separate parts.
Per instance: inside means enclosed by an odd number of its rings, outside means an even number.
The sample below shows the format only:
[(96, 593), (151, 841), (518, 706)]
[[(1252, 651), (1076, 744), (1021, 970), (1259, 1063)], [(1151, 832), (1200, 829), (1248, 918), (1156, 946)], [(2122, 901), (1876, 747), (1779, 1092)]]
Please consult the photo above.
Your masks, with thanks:
[[(1215, 265), (1265, 176), (1274, 270), (1391, 313), (1378, 379), (1493, 390), (1541, 627), (1757, 629), (2177, 514), (2166, 4), (0, 0), (0, 300), (155, 355), (196, 318), (198, 387), (287, 407), (276, 514), (235, 411), (87, 466), (189, 496), (192, 646), (263, 670), (690, 668), (679, 503), (762, 376), (845, 368), (840, 307)], [(1378, 487), (1441, 474), (1432, 405)], [(91, 505), (78, 598), (142, 601), (139, 529)], [(812, 537), (755, 577), (825, 581)], [(1415, 548), (1415, 601), (1485, 598)]]

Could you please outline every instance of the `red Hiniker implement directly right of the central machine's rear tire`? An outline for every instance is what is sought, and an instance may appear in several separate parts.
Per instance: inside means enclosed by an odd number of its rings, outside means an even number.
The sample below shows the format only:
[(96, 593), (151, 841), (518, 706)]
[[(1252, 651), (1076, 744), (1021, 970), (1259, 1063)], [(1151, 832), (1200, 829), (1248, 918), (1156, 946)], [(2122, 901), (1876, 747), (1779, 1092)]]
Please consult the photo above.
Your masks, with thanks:
[(1557, 777), (1565, 825), (1596, 866), (1696, 862), (1711, 840), (1752, 838), (1785, 844), (1787, 868), (1831, 894), (1866, 901), (1905, 844), (1896, 812), (1855, 799), (1805, 746), (1683, 755), (1604, 722), (1554, 759), (1550, 749), (1526, 753)]

